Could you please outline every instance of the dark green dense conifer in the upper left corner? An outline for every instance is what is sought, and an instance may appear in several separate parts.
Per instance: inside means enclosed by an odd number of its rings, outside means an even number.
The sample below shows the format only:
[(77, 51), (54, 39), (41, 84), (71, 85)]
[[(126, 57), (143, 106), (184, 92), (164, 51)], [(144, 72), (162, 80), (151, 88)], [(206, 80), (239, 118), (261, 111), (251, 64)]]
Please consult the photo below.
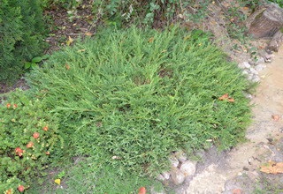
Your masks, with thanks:
[(0, 80), (18, 78), (24, 62), (42, 54), (39, 0), (0, 0)]

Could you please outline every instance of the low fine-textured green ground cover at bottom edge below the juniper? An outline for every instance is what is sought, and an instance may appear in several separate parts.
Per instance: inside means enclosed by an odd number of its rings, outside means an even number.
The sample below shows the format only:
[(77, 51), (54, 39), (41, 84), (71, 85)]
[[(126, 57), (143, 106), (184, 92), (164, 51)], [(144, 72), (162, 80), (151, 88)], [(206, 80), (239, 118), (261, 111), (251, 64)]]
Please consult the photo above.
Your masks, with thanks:
[[(65, 175), (61, 178), (64, 188), (54, 187), (54, 180), (60, 173), (52, 173), (43, 185), (33, 185), (30, 193), (137, 193), (140, 187), (150, 188), (158, 185), (156, 180), (139, 177), (126, 172), (121, 177), (116, 169), (109, 165), (99, 166), (92, 157), (77, 157), (75, 164), (65, 163)], [(56, 171), (55, 171), (56, 172)], [(160, 184), (160, 183), (159, 183)], [(160, 186), (160, 185), (159, 185)], [(38, 189), (40, 188), (40, 189)]]

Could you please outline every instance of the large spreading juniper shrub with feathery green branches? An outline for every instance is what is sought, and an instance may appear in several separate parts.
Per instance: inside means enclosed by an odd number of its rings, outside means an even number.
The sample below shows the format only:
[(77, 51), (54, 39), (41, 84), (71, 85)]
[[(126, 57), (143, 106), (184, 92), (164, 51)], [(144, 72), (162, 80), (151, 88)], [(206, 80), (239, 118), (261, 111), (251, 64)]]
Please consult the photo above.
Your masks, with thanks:
[[(60, 119), (65, 153), (91, 156), (118, 175), (154, 175), (179, 149), (235, 146), (249, 123), (249, 84), (199, 31), (102, 32), (57, 52), (28, 79)], [(218, 101), (224, 93), (235, 101)]]

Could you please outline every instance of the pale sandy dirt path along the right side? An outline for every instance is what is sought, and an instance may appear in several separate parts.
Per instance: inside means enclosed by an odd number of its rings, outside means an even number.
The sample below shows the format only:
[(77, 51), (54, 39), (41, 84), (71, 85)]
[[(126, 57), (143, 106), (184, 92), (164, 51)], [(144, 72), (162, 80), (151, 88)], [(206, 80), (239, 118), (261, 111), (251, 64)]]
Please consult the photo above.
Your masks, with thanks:
[[(283, 161), (283, 151), (271, 146), (271, 141), (283, 137), (283, 48), (260, 72), (260, 78), (251, 101), (254, 107), (253, 123), (247, 131), (249, 141), (197, 173), (184, 193), (232, 194), (237, 189), (252, 193), (263, 174), (259, 166), (268, 160)], [(272, 119), (275, 115), (280, 116), (279, 121)]]

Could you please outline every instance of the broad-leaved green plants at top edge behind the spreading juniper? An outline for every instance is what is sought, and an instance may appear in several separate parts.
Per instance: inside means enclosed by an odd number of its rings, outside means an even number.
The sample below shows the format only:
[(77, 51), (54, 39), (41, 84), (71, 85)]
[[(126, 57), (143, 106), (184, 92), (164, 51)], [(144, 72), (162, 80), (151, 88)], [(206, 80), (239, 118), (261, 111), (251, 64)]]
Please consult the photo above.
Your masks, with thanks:
[(177, 0), (99, 0), (94, 1), (93, 11), (98, 19), (116, 26), (133, 22), (136, 25), (151, 25), (155, 19), (172, 20), (181, 13), (185, 4), (189, 3), (180, 3)]

